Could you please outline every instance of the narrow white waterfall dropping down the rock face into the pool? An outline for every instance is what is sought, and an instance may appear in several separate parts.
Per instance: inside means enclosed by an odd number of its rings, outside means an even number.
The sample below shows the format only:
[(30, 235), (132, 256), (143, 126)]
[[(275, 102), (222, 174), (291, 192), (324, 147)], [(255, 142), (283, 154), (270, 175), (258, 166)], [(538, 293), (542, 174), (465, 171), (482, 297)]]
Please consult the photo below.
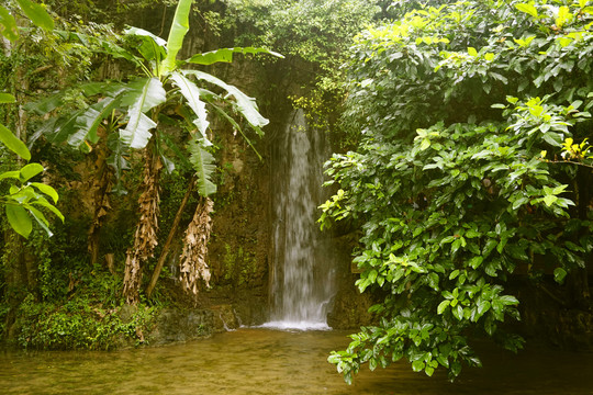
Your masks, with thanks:
[(324, 133), (309, 127), (302, 110), (294, 111), (272, 162), (275, 247), (267, 327), (328, 328), (335, 266), (316, 224), (317, 206), (325, 201), (326, 157)]

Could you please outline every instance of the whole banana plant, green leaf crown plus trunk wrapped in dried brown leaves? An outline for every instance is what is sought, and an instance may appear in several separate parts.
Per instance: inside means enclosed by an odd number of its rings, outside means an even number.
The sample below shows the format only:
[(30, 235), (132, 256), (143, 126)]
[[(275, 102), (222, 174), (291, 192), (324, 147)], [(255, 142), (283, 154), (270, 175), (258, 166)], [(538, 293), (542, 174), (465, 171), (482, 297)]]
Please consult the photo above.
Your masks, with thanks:
[[(206, 198), (216, 191), (212, 181), (215, 165), (210, 151), (212, 143), (208, 135), (210, 121), (206, 104), (230, 121), (249, 144), (247, 135), (230, 112), (240, 113), (258, 135), (268, 123), (258, 112), (254, 99), (236, 87), (208, 72), (182, 67), (230, 63), (235, 54), (281, 55), (264, 48), (234, 47), (178, 60), (189, 30), (191, 4), (192, 0), (178, 2), (167, 41), (142, 29), (127, 29), (125, 38), (133, 41), (137, 53), (113, 41), (72, 33), (72, 40), (93, 42), (100, 50), (130, 61), (136, 70), (142, 70), (142, 75), (128, 75), (124, 81), (90, 82), (78, 87), (85, 97), (85, 104), (75, 112), (51, 119), (40, 129), (53, 143), (67, 142), (87, 151), (98, 143), (101, 134), (107, 134), (111, 147), (109, 163), (116, 174), (127, 167), (130, 149), (145, 149), (144, 187), (138, 200), (141, 215), (134, 246), (127, 253), (124, 279), (124, 294), (130, 303), (138, 300), (142, 264), (152, 257), (157, 244), (158, 177), (163, 168), (172, 170), (175, 167), (167, 151), (174, 151), (183, 162), (191, 163), (197, 174), (198, 192)], [(205, 84), (223, 93), (209, 90)], [(60, 92), (34, 109), (38, 113), (53, 112), (64, 104), (64, 97), (65, 92)], [(177, 122), (171, 114), (181, 117), (183, 123)], [(189, 132), (189, 158), (160, 131), (159, 123), (163, 122), (177, 124)]]

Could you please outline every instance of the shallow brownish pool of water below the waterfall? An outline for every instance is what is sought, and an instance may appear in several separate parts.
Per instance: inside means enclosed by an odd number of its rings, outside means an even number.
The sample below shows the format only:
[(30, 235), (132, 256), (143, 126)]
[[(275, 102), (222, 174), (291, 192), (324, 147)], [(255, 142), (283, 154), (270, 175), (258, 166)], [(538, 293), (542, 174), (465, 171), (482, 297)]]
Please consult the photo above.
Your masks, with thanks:
[(456, 383), (406, 363), (348, 386), (326, 362), (343, 331), (239, 329), (201, 341), (114, 352), (0, 353), (1, 394), (593, 394), (593, 353), (485, 347)]

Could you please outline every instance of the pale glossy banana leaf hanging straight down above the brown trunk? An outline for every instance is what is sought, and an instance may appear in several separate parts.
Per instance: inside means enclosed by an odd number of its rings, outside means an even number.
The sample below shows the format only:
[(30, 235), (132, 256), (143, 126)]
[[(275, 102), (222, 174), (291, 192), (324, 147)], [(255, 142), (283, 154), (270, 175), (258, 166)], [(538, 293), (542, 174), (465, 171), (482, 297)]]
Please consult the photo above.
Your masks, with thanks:
[(150, 139), (150, 129), (156, 127), (156, 122), (150, 120), (145, 112), (164, 103), (167, 100), (167, 92), (158, 78), (146, 80), (142, 91), (136, 97), (135, 102), (127, 111), (127, 125), (125, 129), (120, 129), (120, 137), (132, 148), (144, 148)]

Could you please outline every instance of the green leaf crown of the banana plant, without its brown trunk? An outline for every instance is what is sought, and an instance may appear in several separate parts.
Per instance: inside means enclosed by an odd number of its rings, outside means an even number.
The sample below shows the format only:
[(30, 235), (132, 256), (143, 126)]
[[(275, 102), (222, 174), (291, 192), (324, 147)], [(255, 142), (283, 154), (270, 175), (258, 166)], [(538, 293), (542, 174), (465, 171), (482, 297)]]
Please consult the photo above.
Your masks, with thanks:
[[(180, 0), (169, 31), (168, 40), (164, 40), (153, 33), (130, 27), (124, 31), (125, 36), (135, 38), (138, 43), (137, 54), (113, 43), (104, 44), (102, 50), (118, 58), (131, 61), (141, 76), (130, 76), (125, 82), (92, 82), (79, 87), (89, 99), (98, 98), (88, 106), (58, 119), (52, 119), (44, 124), (33, 137), (42, 134), (53, 143), (67, 142), (72, 146), (89, 150), (99, 139), (98, 128), (109, 123), (116, 114), (121, 127), (118, 131), (122, 149), (118, 149), (111, 159), (111, 163), (121, 171), (126, 162), (122, 154), (127, 148), (143, 149), (148, 142), (156, 139), (158, 155), (168, 168), (172, 161), (164, 156), (159, 149), (164, 145), (170, 145), (170, 139), (158, 135), (159, 119), (163, 110), (167, 106), (177, 106), (179, 102), (184, 106), (183, 111), (177, 110), (186, 119), (186, 124), (192, 125), (190, 139), (187, 146), (189, 160), (198, 177), (198, 191), (202, 196), (211, 195), (216, 191), (211, 177), (215, 167), (213, 156), (208, 151), (212, 145), (206, 131), (209, 128), (209, 110), (223, 115), (247, 139), (239, 124), (233, 120), (220, 103), (230, 103), (234, 111), (240, 113), (249, 126), (261, 135), (261, 127), (268, 123), (259, 112), (253, 98), (243, 93), (236, 87), (227, 84), (219, 78), (195, 69), (183, 69), (189, 65), (212, 65), (233, 60), (234, 54), (269, 54), (282, 57), (265, 48), (236, 47), (221, 48), (204, 54), (197, 54), (188, 59), (179, 60), (177, 56), (182, 47), (183, 37), (189, 31), (189, 12), (193, 0)], [(81, 34), (72, 34), (80, 41), (92, 40)], [(222, 94), (206, 89), (205, 86), (215, 87)], [(49, 98), (31, 109), (40, 114), (54, 111), (63, 104), (60, 94)], [(155, 136), (156, 135), (156, 136)], [(165, 143), (165, 144), (161, 144)], [(175, 151), (179, 153), (178, 149)]]

